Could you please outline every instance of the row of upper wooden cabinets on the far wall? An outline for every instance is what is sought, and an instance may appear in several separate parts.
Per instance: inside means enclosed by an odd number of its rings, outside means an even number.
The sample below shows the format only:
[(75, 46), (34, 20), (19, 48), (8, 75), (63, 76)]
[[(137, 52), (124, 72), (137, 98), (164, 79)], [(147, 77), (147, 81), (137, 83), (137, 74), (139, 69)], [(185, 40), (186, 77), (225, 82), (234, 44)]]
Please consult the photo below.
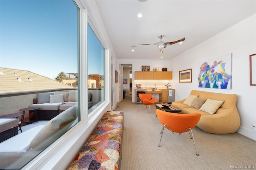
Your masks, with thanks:
[(135, 71), (135, 80), (172, 80), (172, 71)]

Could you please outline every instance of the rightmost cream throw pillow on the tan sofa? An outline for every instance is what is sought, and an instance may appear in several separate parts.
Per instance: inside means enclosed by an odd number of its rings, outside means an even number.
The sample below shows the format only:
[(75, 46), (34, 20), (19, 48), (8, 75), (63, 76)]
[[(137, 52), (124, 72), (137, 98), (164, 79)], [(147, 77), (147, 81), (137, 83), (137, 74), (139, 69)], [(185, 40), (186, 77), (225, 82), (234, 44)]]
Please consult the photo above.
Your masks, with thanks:
[(199, 110), (212, 115), (219, 109), (223, 102), (224, 100), (207, 99)]

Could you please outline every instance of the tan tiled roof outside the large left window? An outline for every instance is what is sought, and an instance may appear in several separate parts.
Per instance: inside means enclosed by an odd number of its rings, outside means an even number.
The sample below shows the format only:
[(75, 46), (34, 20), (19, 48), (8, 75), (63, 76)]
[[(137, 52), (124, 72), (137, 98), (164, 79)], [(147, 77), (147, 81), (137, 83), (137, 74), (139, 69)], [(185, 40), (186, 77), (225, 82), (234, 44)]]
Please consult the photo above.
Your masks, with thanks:
[(0, 93), (67, 88), (72, 86), (31, 71), (0, 67)]

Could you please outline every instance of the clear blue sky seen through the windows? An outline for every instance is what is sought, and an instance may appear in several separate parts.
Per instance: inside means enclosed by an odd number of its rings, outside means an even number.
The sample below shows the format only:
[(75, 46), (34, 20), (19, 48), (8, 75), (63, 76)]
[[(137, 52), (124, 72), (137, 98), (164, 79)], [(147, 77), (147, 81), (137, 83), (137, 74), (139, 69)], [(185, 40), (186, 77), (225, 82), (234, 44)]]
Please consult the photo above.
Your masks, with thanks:
[[(61, 71), (77, 73), (77, 15), (72, 0), (0, 0), (0, 67), (28, 70), (51, 79)], [(92, 36), (94, 45), (89, 43), (89, 49), (100, 45), (94, 39)], [(97, 56), (102, 51), (89, 52)], [(95, 70), (97, 58), (91, 58), (88, 73), (102, 74)]]

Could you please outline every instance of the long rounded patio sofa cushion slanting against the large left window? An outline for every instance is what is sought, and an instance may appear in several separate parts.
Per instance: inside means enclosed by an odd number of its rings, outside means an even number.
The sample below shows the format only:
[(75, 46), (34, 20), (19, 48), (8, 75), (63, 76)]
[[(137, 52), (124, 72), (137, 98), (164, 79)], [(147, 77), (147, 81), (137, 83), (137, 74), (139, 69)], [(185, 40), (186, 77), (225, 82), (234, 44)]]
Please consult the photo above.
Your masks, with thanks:
[(76, 120), (77, 105), (70, 107), (58, 116), (51, 119), (29, 144), (32, 150), (41, 150), (48, 147), (64, 134)]

